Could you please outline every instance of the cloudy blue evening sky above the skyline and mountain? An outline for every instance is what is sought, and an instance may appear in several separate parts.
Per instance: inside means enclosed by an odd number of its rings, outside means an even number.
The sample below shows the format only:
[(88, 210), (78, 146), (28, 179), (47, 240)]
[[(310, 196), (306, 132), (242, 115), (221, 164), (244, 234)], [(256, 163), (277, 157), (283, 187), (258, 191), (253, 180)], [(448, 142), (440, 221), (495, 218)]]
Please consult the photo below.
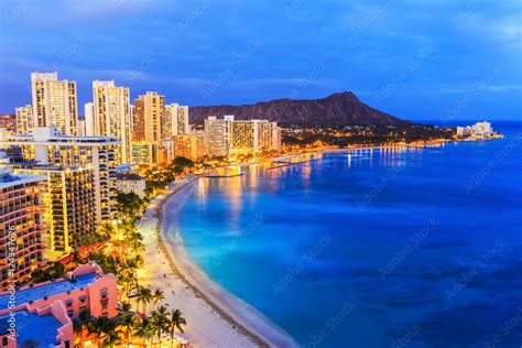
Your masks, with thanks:
[(31, 73), (242, 105), (351, 90), (411, 120), (522, 120), (518, 0), (1, 0), (0, 112)]

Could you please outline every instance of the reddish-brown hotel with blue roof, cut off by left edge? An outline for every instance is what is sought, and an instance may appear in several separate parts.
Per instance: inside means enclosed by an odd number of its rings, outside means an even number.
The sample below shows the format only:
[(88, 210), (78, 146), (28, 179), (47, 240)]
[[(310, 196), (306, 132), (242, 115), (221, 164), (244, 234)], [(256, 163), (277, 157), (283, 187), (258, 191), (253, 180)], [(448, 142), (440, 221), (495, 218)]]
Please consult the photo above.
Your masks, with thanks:
[(42, 175), (0, 168), (0, 289), (31, 276), (44, 263)]

